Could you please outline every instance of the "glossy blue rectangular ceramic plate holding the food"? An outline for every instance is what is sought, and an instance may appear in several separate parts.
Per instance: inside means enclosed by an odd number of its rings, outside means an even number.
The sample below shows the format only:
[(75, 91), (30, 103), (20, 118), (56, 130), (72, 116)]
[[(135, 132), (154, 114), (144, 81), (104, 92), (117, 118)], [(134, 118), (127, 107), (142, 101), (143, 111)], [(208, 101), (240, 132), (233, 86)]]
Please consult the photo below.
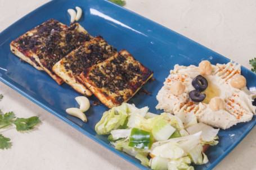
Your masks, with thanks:
[[(152, 95), (135, 95), (131, 99), (132, 103), (139, 108), (149, 106), (152, 113), (161, 112), (155, 109), (158, 103), (155, 97), (165, 77), (169, 75), (169, 70), (173, 69), (175, 64), (198, 65), (203, 59), (210, 59), (213, 64), (216, 64), (227, 63), (230, 60), (166, 27), (103, 0), (51, 1), (15, 22), (0, 34), (0, 80), (2, 82), (128, 162), (141, 169), (148, 169), (137, 159), (112, 148), (107, 141), (107, 136), (96, 134), (95, 125), (107, 109), (104, 105), (89, 109), (88, 123), (69, 116), (65, 113), (65, 109), (77, 105), (74, 98), (80, 94), (67, 84), (57, 85), (47, 73), (35, 70), (28, 63), (20, 62), (19, 58), (10, 51), (9, 44), (12, 40), (48, 19), (53, 18), (69, 25), (70, 19), (66, 11), (75, 6), (83, 9), (83, 17), (79, 24), (84, 26), (91, 35), (101, 35), (118, 50), (128, 50), (138, 61), (154, 71), (156, 81), (147, 82), (143, 87)], [(248, 88), (255, 89), (255, 74), (244, 67), (242, 74), (248, 80)], [(95, 97), (90, 98), (91, 104), (94, 100), (96, 100)], [(212, 169), (248, 134), (255, 122), (253, 117), (253, 120), (248, 123), (240, 123), (226, 131), (219, 131), (220, 143), (210, 147), (206, 152), (209, 162), (203, 166), (196, 166), (196, 169)]]

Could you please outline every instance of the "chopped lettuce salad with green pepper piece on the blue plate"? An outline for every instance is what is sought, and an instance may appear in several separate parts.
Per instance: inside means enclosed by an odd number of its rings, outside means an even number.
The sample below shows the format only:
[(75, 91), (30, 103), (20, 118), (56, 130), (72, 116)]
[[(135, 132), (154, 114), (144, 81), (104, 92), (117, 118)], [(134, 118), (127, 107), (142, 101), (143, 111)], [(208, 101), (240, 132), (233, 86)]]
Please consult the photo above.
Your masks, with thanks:
[(194, 113), (150, 113), (123, 103), (104, 112), (96, 124), (98, 135), (109, 135), (115, 149), (139, 159), (151, 169), (194, 169), (205, 164), (205, 146), (218, 144), (218, 131), (198, 123)]

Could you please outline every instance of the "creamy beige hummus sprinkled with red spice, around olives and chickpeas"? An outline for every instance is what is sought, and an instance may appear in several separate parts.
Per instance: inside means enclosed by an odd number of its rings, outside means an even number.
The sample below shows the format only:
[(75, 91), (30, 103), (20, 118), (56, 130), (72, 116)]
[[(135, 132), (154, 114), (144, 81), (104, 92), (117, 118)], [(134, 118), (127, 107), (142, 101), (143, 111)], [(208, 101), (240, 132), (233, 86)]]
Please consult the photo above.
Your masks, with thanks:
[[(252, 102), (256, 97), (256, 91), (249, 91), (246, 86), (242, 89), (233, 88), (230, 81), (237, 74), (241, 74), (241, 66), (232, 61), (223, 65), (212, 65), (212, 73), (203, 75), (208, 81), (208, 87), (202, 92), (206, 94), (206, 98), (203, 102), (196, 103), (188, 94), (195, 90), (192, 80), (200, 75), (199, 68), (194, 65), (188, 67), (175, 65), (156, 96), (159, 102), (156, 109), (163, 109), (164, 112), (172, 114), (192, 112), (196, 115), (197, 121), (222, 129), (239, 122), (250, 121), (255, 114), (256, 107)], [(174, 81), (181, 81), (185, 85), (182, 94), (170, 93), (170, 85)], [(209, 102), (213, 97), (219, 97), (224, 101), (223, 109), (213, 111), (210, 108)]]

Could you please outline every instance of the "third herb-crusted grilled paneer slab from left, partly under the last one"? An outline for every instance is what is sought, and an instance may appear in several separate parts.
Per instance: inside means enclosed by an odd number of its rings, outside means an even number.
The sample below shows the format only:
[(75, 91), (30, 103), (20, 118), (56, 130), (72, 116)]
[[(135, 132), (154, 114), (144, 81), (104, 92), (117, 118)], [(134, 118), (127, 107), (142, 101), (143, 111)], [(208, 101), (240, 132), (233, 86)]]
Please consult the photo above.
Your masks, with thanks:
[(84, 85), (80, 73), (116, 53), (116, 49), (98, 36), (62, 58), (52, 67), (52, 71), (79, 93), (90, 96), (92, 92)]

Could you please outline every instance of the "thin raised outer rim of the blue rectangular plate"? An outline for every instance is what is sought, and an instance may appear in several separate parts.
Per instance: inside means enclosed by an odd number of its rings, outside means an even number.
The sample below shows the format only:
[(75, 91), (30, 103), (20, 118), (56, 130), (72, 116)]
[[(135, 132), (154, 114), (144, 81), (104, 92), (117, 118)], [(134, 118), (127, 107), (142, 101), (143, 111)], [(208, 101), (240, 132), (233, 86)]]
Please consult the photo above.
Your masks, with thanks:
[[(86, 1), (89, 1), (89, 0), (86, 0)], [(204, 49), (206, 49), (206, 50), (209, 50), (210, 52), (216, 53), (216, 54), (218, 54), (218, 56), (221, 56), (221, 57), (223, 57), (224, 59), (226, 59), (226, 60), (228, 60), (228, 61), (231, 61), (231, 59), (222, 56), (221, 54), (215, 52), (214, 50), (209, 49), (209, 48), (205, 47), (204, 45), (202, 45), (202, 44), (200, 44), (200, 43), (197, 43), (197, 42), (195, 42), (194, 40), (189, 39), (189, 38), (187, 38), (186, 36), (184, 36), (184, 35), (182, 35), (182, 34), (179, 34), (179, 33), (177, 33), (176, 31), (173, 31), (173, 30), (169, 29), (168, 27), (165, 27), (165, 26), (163, 26), (163, 25), (160, 25), (160, 24), (158, 24), (158, 23), (155, 22), (155, 21), (152, 21), (152, 20), (150, 20), (150, 19), (147, 19), (147, 18), (144, 17), (144, 16), (141, 16), (141, 15), (139, 15), (139, 14), (137, 14), (137, 13), (131, 11), (131, 10), (128, 10), (127, 8), (121, 7), (121, 6), (119, 6), (118, 4), (115, 4), (115, 3), (110, 2), (110, 1), (107, 1), (107, 0), (98, 0), (98, 1), (105, 1), (106, 3), (110, 3), (111, 5), (113, 5), (113, 6), (115, 6), (115, 7), (121, 8), (123, 11), (126, 11), (126, 12), (128, 12), (128, 13), (132, 13), (132, 15), (136, 15), (136, 16), (140, 17), (142, 20), (149, 21), (151, 24), (154, 24), (154, 25), (160, 27), (161, 29), (164, 29), (164, 30), (166, 30), (166, 31), (170, 31), (170, 32), (172, 32), (173, 34), (176, 34), (176, 35), (178, 35), (178, 36), (182, 36), (182, 38), (185, 38), (187, 41), (190, 41), (190, 42), (192, 42), (192, 43), (195, 43), (195, 44), (197, 44), (197, 45), (200, 45), (202, 48), (204, 48)], [(38, 8), (35, 8), (35, 10), (33, 10), (33, 11), (27, 13), (26, 15), (24, 15), (23, 17), (21, 17), (19, 20), (15, 21), (13, 24), (7, 26), (6, 29), (4, 29), (4, 30), (0, 33), (0, 37), (3, 36), (3, 35), (5, 35), (6, 32), (7, 32), (11, 27), (13, 27), (14, 25), (17, 25), (19, 22), (23, 21), (23, 20), (24, 20), (26, 17), (28, 17), (29, 15), (32, 15), (33, 13), (37, 12), (38, 10), (41, 10), (41, 9), (45, 8), (46, 6), (48, 6), (49, 4), (55, 3), (55, 2), (63, 2), (63, 3), (65, 3), (65, 2), (67, 2), (67, 0), (51, 0), (51, 1), (49, 1), (49, 2), (47, 2), (47, 3), (45, 3), (45, 4), (43, 4), (42, 6), (39, 6)], [(68, 1), (68, 2), (69, 2), (69, 1)], [(0, 48), (2, 48), (1, 45), (0, 45)], [(242, 70), (246, 70), (246, 71), (252, 72), (251, 70), (249, 70), (248, 68), (245, 68), (244, 66), (241, 66), (241, 68), (242, 68)], [(253, 72), (252, 72), (252, 73), (253, 73)], [(149, 169), (149, 168), (150, 168), (150, 167), (142, 166), (142, 165), (141, 165), (140, 163), (138, 163), (138, 162), (134, 162), (134, 160), (132, 160), (131, 158), (129, 158), (126, 153), (123, 153), (122, 151), (116, 150), (115, 148), (111, 147), (109, 144), (106, 144), (104, 141), (98, 139), (97, 137), (93, 136), (92, 134), (90, 134), (89, 132), (87, 132), (86, 130), (84, 130), (82, 127), (77, 126), (74, 122), (68, 120), (68, 119), (65, 118), (65, 117), (62, 117), (59, 113), (53, 111), (50, 107), (47, 107), (46, 105), (44, 105), (43, 103), (41, 103), (40, 101), (38, 101), (37, 99), (35, 99), (33, 96), (31, 96), (31, 95), (27, 94), (25, 91), (21, 90), (19, 87), (17, 87), (17, 86), (15, 86), (15, 85), (11, 84), (10, 81), (5, 80), (5, 79), (1, 76), (1, 74), (0, 74), (0, 81), (3, 82), (4, 84), (6, 84), (7, 86), (9, 86), (10, 88), (14, 89), (15, 91), (17, 91), (18, 93), (20, 93), (20, 94), (23, 95), (24, 97), (26, 97), (26, 98), (28, 98), (29, 100), (31, 100), (33, 103), (39, 105), (39, 107), (42, 107), (42, 108), (45, 109), (47, 112), (50, 112), (50, 113), (53, 114), (54, 116), (60, 118), (60, 120), (62, 120), (62, 121), (64, 121), (64, 122), (68, 123), (68, 125), (70, 125), (71, 127), (77, 129), (79, 132), (81, 132), (82, 134), (86, 135), (87, 137), (89, 137), (89, 138), (92, 139), (93, 141), (96, 141), (96, 143), (98, 143), (98, 144), (104, 146), (104, 148), (106, 148), (106, 149), (112, 151), (114, 154), (116, 154), (116, 155), (118, 155), (119, 157), (123, 158), (123, 159), (126, 160), (127, 162), (132, 163), (134, 166), (137, 166), (138, 168), (141, 168), (141, 169)], [(254, 115), (253, 117), (255, 117), (255, 115)], [(215, 161), (214, 161), (213, 163), (211, 163), (210, 166), (207, 167), (206, 169), (212, 169), (212, 168), (214, 168), (215, 166), (217, 166), (217, 164), (218, 164), (219, 162), (221, 162), (221, 160), (222, 160), (223, 158), (225, 158), (225, 157), (241, 142), (241, 140), (245, 138), (246, 135), (249, 134), (249, 132), (253, 129), (253, 127), (254, 127), (255, 125), (256, 125), (256, 120), (253, 122), (253, 124), (252, 124), (251, 126), (249, 126), (249, 128), (246, 129), (246, 131), (244, 131), (244, 132), (242, 133), (242, 135), (240, 136), (239, 139), (237, 139), (226, 151), (224, 151), (224, 153), (223, 153), (221, 156), (219, 156), (217, 159), (215, 159)]]

